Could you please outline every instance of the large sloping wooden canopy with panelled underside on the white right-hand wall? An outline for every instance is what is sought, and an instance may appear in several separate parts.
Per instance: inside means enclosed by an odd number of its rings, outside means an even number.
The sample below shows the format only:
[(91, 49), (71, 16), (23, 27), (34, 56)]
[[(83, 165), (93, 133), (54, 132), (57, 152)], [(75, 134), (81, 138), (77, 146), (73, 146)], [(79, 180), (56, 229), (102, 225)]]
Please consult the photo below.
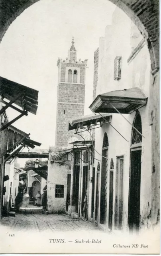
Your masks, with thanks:
[(130, 114), (146, 104), (147, 96), (140, 88), (135, 87), (100, 94), (89, 108), (96, 113)]

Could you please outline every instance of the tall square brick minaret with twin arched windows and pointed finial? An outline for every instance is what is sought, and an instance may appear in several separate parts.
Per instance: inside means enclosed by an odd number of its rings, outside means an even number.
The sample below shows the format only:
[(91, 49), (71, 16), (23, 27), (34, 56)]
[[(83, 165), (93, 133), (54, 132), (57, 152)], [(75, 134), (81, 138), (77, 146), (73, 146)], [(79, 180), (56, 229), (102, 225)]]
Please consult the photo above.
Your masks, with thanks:
[(68, 51), (68, 58), (58, 58), (57, 119), (55, 146), (67, 146), (69, 120), (84, 115), (85, 74), (87, 60), (77, 61), (74, 38)]

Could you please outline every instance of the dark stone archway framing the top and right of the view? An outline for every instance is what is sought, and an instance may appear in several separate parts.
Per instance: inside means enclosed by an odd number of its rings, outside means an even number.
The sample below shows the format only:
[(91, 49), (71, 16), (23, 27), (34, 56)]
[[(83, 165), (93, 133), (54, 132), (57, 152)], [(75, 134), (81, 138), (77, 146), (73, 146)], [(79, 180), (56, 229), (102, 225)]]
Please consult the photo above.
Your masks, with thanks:
[[(0, 0), (0, 41), (10, 24), (26, 8), (39, 0)], [(151, 58), (151, 109), (152, 125), (152, 208), (151, 220), (158, 222), (160, 204), (159, 167), (159, 0), (110, 0), (121, 8), (134, 22), (147, 41)]]

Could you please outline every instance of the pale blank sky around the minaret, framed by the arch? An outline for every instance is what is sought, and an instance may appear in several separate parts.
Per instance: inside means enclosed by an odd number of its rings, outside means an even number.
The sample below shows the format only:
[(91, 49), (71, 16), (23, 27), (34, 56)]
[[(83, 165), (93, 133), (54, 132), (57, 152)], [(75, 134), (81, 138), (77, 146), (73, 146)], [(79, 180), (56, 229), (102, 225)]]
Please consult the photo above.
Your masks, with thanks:
[[(84, 114), (92, 103), (94, 51), (116, 6), (108, 0), (40, 0), (10, 25), (0, 44), (0, 76), (39, 91), (37, 115), (13, 125), (42, 143), (55, 145), (57, 59), (65, 59), (74, 36), (77, 59), (88, 59)], [(9, 120), (18, 115), (7, 110)]]

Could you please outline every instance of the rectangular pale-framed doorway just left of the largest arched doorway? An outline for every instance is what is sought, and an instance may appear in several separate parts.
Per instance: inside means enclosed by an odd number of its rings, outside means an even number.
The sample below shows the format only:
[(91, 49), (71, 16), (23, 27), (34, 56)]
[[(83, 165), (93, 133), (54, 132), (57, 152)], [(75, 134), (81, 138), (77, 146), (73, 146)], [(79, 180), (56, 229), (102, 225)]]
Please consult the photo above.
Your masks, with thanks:
[(120, 156), (116, 159), (116, 187), (115, 187), (115, 229), (122, 230), (123, 215), (123, 170), (124, 157)]

